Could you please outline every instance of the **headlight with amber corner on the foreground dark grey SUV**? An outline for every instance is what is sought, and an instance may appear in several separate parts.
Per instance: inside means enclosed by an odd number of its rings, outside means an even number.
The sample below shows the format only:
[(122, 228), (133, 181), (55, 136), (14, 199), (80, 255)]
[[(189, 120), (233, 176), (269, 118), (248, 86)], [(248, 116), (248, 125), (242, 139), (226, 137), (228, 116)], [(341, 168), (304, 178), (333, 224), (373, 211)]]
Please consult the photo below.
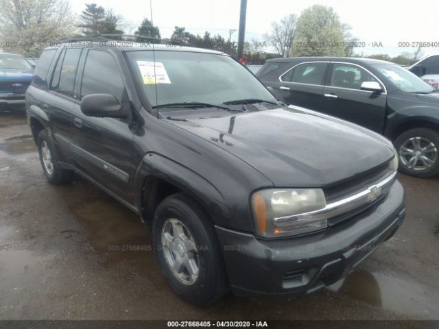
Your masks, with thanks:
[(268, 188), (253, 193), (251, 199), (259, 236), (303, 234), (328, 226), (327, 219), (313, 219), (310, 213), (327, 204), (321, 188)]

